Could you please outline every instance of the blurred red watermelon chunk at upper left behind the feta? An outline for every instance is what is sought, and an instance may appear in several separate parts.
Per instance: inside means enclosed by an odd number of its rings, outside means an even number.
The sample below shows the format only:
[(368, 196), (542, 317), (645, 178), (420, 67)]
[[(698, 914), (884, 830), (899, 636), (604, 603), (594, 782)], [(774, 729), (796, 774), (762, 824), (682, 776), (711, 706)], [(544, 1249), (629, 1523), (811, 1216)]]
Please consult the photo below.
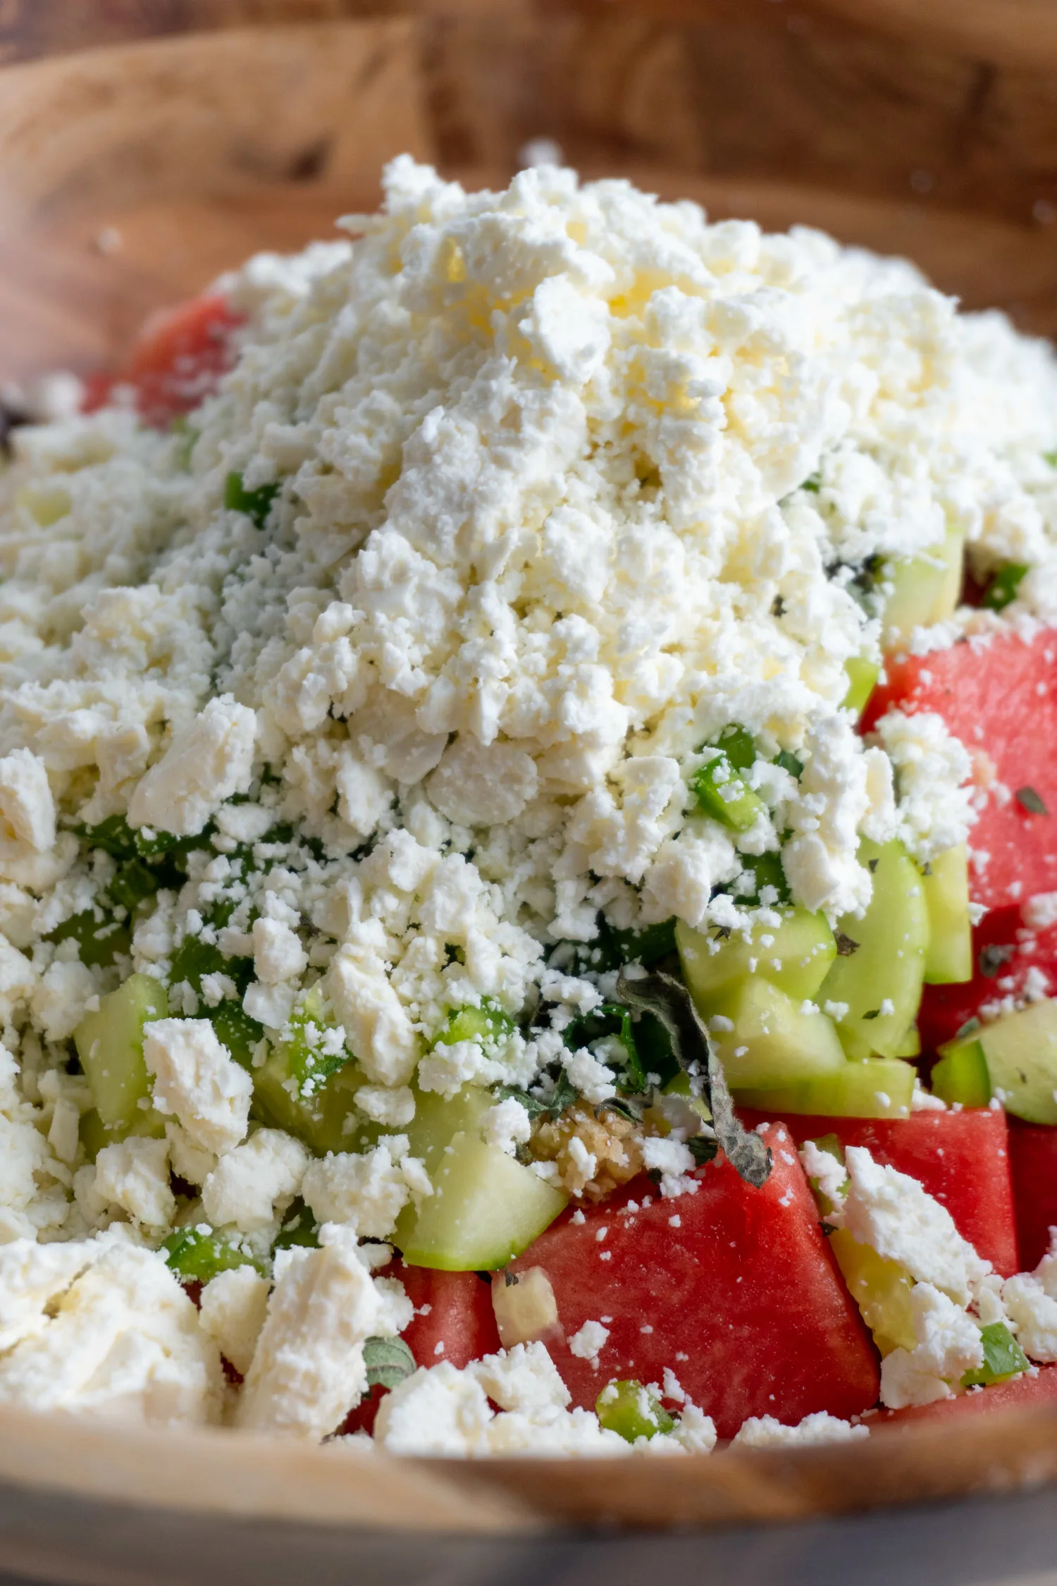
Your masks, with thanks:
[(244, 316), (216, 292), (152, 314), (124, 368), (89, 381), (84, 411), (103, 408), (116, 385), (132, 385), (139, 417), (165, 430), (217, 389), (235, 362), (231, 331), (241, 324)]

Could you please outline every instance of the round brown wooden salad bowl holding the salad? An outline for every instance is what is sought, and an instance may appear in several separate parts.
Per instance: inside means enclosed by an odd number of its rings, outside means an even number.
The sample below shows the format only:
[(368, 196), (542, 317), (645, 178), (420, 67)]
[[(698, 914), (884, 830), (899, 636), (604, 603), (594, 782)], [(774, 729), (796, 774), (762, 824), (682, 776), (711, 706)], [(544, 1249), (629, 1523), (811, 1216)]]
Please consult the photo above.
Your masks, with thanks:
[[(369, 10), (0, 6), (0, 384), (114, 363), (151, 309), (371, 206), (399, 151), (504, 182), (542, 136), (586, 174), (822, 225), (1057, 328), (1047, 0)], [(1055, 1478), (1057, 1410), (618, 1464), (398, 1462), (3, 1410), (0, 1569), (98, 1586), (631, 1586), (658, 1567), (740, 1586), (1041, 1583)]]

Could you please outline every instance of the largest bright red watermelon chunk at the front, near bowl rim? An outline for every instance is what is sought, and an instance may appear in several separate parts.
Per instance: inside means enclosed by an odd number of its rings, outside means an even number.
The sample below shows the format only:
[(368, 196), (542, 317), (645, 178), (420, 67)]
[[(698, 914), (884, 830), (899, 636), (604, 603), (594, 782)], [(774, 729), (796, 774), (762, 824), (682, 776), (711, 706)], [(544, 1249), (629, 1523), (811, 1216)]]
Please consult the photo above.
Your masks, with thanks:
[[(564, 1212), (512, 1262), (551, 1281), (564, 1342), (548, 1350), (574, 1404), (591, 1408), (612, 1377), (662, 1385), (666, 1366), (719, 1437), (751, 1415), (796, 1423), (876, 1404), (876, 1354), (792, 1142), (781, 1128), (767, 1140), (775, 1166), (761, 1190), (724, 1159), (694, 1175), (696, 1194), (661, 1199), (637, 1178)], [(596, 1361), (569, 1348), (585, 1321), (607, 1329)]]

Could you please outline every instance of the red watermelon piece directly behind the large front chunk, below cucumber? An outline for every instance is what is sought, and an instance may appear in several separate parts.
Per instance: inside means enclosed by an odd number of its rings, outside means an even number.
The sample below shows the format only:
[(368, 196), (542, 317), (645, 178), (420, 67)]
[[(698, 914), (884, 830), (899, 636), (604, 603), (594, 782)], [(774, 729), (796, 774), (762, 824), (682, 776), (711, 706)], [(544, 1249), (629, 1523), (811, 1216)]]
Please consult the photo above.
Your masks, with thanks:
[[(746, 1128), (762, 1115), (738, 1109)], [(875, 1161), (910, 1174), (948, 1209), (957, 1231), (1002, 1277), (1019, 1272), (1009, 1129), (1000, 1110), (914, 1112), (910, 1118), (781, 1120), (802, 1145), (835, 1134), (841, 1145), (865, 1145)], [(1055, 1131), (1043, 1131), (1054, 1132)], [(1054, 1156), (1057, 1164), (1057, 1155)], [(1057, 1220), (1057, 1218), (1055, 1218)]]

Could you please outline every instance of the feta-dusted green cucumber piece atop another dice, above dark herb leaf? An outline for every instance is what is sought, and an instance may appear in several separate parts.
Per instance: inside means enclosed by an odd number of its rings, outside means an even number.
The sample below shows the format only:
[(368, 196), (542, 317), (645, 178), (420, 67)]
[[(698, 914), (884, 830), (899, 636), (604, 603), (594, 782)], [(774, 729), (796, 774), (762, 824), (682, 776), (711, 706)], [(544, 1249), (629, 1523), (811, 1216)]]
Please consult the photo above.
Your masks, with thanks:
[[(813, 998), (837, 956), (826, 915), (800, 907), (783, 910), (781, 925), (757, 925), (750, 942), (742, 931), (723, 940), (715, 933), (693, 931), (680, 920), (675, 945), (683, 979), (705, 1015), (713, 1012), (716, 996), (753, 974), (800, 1002)], [(754, 971), (750, 964), (756, 966)]]

